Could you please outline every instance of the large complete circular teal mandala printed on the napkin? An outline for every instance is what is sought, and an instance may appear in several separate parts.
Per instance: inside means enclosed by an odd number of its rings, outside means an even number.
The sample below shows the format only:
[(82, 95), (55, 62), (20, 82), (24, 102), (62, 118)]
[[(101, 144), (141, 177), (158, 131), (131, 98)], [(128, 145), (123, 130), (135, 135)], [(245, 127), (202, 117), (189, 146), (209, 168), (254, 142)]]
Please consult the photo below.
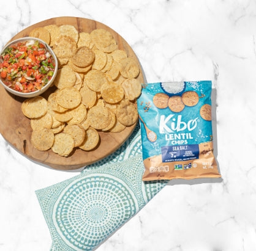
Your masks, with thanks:
[(111, 175), (88, 175), (62, 191), (53, 209), (53, 222), (69, 246), (88, 250), (137, 211), (134, 192), (124, 181)]

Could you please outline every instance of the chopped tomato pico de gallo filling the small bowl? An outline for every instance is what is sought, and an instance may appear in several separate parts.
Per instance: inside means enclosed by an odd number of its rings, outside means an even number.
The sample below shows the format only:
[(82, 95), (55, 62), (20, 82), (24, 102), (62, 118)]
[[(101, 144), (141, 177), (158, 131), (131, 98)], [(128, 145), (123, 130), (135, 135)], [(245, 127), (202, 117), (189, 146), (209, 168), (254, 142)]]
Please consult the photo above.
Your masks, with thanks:
[(18, 92), (28, 93), (42, 89), (50, 81), (54, 71), (53, 56), (37, 40), (10, 45), (1, 54), (1, 79)]

